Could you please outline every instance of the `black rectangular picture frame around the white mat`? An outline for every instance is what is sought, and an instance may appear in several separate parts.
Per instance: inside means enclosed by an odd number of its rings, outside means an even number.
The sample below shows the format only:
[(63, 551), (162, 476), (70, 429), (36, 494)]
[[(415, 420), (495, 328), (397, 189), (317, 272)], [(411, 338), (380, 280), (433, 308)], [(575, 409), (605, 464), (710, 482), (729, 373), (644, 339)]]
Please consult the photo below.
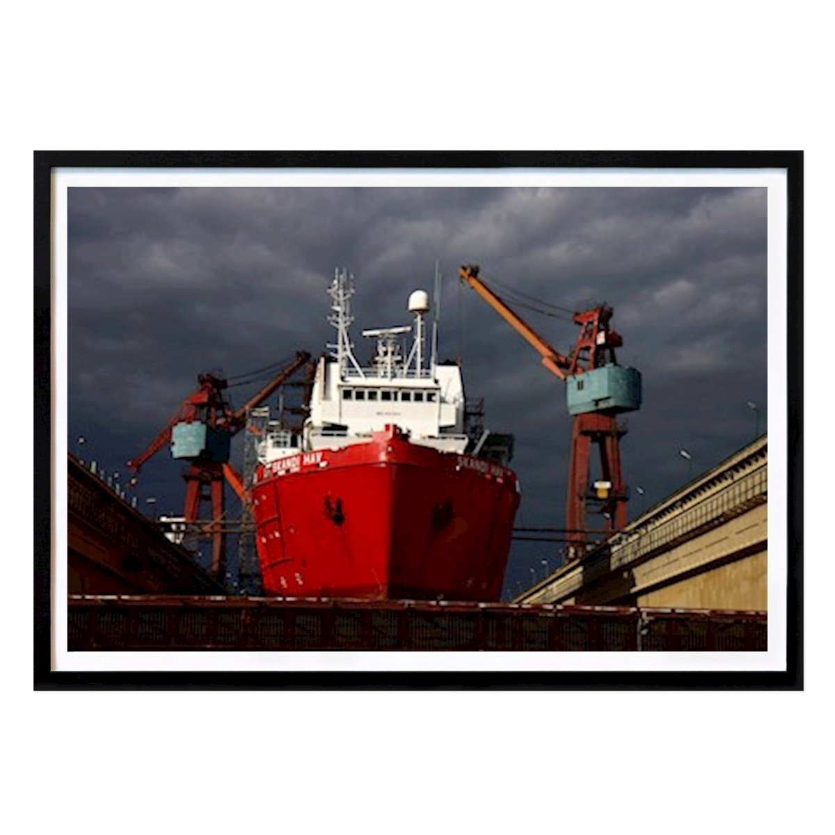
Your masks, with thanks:
[[(787, 668), (785, 671), (69, 672), (53, 670), (53, 170), (778, 169), (787, 175)], [(36, 151), (34, 153), (34, 687), (36, 690), (800, 690), (802, 151)]]

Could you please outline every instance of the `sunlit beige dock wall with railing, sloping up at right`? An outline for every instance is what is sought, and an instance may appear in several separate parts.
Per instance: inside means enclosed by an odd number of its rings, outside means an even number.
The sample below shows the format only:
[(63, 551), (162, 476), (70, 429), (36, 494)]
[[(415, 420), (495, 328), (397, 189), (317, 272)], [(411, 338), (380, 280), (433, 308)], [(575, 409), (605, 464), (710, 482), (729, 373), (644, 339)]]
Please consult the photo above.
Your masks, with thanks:
[(767, 560), (764, 435), (515, 600), (766, 611)]

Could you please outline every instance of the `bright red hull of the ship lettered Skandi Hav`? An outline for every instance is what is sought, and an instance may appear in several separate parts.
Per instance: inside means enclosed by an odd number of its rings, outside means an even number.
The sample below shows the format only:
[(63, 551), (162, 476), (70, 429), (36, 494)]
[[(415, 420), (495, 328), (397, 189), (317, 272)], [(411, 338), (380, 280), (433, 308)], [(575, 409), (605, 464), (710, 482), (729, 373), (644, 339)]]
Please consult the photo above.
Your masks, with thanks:
[(498, 600), (519, 505), (509, 469), (409, 443), (265, 464), (252, 488), (267, 595)]

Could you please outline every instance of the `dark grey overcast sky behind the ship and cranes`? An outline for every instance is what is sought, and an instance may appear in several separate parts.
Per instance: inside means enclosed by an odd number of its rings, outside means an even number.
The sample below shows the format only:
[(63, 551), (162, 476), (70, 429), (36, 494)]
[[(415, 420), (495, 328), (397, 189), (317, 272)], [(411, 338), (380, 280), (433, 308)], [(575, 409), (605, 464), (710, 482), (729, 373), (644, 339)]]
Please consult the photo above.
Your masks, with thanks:
[[(487, 425), (516, 437), (517, 524), (561, 526), (571, 426), (564, 383), (473, 291), (478, 263), (571, 308), (608, 301), (621, 364), (644, 405), (621, 442), (630, 517), (753, 438), (767, 399), (764, 189), (72, 188), (68, 199), (70, 448), (109, 472), (139, 453), (201, 370), (240, 374), (314, 355), (331, 339), (326, 288), (356, 276), (355, 342), (405, 324), (409, 292), (445, 276), (442, 357), (460, 356)], [(559, 350), (569, 321), (521, 311)], [(236, 389), (240, 403), (245, 390)], [(139, 497), (181, 512), (180, 465), (149, 463)], [(635, 486), (645, 497), (635, 494)], [(506, 590), (558, 563), (559, 546), (514, 544)]]

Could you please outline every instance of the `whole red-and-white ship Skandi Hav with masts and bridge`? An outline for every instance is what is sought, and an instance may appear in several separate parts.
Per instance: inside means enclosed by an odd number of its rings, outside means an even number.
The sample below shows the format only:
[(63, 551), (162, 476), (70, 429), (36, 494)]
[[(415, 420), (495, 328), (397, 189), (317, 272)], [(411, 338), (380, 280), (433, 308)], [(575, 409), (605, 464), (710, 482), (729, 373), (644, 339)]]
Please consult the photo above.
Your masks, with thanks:
[(267, 595), (373, 600), (498, 600), (519, 484), (513, 438), (468, 418), (457, 363), (437, 362), (437, 320), (424, 362), (428, 294), (412, 326), (363, 331), (354, 357), (351, 277), (337, 271), (337, 342), (316, 368), (301, 433), (274, 426), (252, 486)]

